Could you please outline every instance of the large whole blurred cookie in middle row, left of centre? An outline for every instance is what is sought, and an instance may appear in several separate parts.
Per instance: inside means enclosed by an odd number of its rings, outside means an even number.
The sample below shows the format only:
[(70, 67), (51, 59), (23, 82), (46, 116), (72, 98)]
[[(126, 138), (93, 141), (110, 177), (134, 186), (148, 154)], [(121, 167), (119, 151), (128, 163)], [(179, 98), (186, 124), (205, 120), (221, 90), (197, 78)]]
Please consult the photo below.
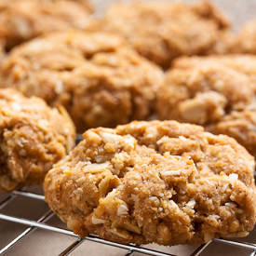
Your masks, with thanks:
[(0, 87), (63, 105), (83, 132), (147, 118), (155, 110), (155, 92), (164, 74), (119, 36), (69, 32), (16, 47), (0, 76)]

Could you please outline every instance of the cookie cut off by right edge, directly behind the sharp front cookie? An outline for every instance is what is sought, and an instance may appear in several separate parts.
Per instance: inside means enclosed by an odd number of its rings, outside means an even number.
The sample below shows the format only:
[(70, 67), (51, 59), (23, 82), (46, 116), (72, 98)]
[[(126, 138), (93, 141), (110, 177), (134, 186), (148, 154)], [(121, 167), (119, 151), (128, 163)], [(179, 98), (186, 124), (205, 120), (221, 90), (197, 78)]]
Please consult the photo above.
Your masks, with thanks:
[(227, 134), (256, 156), (255, 67), (250, 55), (177, 59), (157, 93), (158, 117)]

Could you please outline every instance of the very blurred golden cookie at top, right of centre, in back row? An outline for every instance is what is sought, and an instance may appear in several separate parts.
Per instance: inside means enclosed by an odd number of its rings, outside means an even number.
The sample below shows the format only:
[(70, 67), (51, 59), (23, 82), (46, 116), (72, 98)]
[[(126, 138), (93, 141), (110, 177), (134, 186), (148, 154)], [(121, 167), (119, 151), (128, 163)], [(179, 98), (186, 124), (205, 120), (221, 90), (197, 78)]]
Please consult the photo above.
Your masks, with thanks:
[(181, 55), (224, 53), (231, 36), (228, 20), (207, 1), (117, 3), (107, 9), (103, 27), (163, 68)]

